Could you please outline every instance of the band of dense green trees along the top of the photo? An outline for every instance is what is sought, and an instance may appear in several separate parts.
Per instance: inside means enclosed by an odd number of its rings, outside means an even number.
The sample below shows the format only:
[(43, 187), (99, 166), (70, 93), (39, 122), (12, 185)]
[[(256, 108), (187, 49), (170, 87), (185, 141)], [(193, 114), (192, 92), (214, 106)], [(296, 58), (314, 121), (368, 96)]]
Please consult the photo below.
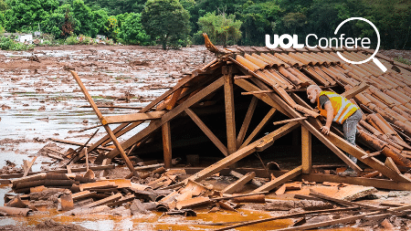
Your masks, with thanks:
[[(352, 16), (377, 26), (383, 48), (411, 48), (409, 0), (0, 0), (0, 32), (40, 28), (56, 39), (103, 35), (163, 47), (202, 44), (203, 32), (220, 45), (264, 46), (266, 34), (297, 34), (304, 42), (308, 34), (334, 37)], [(341, 33), (375, 44), (373, 28), (361, 21)]]

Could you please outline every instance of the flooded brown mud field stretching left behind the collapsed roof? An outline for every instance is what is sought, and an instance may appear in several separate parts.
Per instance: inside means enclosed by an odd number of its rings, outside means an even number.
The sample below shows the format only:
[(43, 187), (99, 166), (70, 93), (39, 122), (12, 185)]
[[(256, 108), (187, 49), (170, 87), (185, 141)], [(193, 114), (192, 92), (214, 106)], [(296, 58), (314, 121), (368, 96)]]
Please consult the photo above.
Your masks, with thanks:
[[(143, 107), (184, 73), (214, 58), (205, 47), (61, 46), (0, 50), (0, 170), (16, 170), (47, 138), (86, 142), (98, 119), (69, 70), (74, 69), (98, 104)], [(101, 109), (104, 115), (136, 110)], [(104, 134), (100, 130), (98, 135)], [(122, 139), (127, 138), (127, 134)], [(7, 164), (6, 161), (11, 163)], [(38, 163), (47, 159), (37, 159)], [(13, 165), (13, 164), (11, 164)], [(12, 170), (13, 169), (13, 170)]]

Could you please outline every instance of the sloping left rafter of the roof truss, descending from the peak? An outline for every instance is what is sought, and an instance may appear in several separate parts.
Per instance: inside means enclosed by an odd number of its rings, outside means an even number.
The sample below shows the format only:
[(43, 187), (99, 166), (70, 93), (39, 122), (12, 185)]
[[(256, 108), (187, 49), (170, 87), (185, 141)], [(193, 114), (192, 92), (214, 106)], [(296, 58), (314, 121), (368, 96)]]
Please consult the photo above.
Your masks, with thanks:
[[(189, 107), (193, 106), (199, 100), (203, 100), (206, 96), (213, 93), (216, 89), (219, 89), (224, 84), (224, 78), (216, 79), (213, 83), (206, 86), (204, 89), (198, 91), (194, 96), (185, 100), (182, 104), (175, 107), (173, 110), (170, 110), (160, 120), (153, 121), (149, 126), (144, 128), (142, 131), (138, 132), (137, 134), (133, 135), (132, 138), (127, 140), (126, 142), (122, 143), (123, 149), (130, 148), (134, 143), (140, 142), (144, 137), (146, 137), (151, 132), (160, 128), (164, 122), (171, 121), (179, 115), (183, 110), (188, 109)], [(119, 150), (115, 149), (109, 152), (105, 158), (112, 159), (119, 154)]]

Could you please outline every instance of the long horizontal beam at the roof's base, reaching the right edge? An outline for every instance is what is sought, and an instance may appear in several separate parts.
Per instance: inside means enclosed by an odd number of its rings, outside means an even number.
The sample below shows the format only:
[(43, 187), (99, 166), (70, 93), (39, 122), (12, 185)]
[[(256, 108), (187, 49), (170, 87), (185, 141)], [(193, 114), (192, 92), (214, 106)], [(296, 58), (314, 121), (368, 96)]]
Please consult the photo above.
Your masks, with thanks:
[(364, 177), (342, 177), (332, 174), (324, 173), (310, 173), (310, 174), (301, 174), (300, 176), (306, 181), (322, 183), (322, 182), (333, 182), (339, 184), (357, 184), (364, 186), (373, 186), (380, 189), (388, 190), (411, 190), (411, 183), (406, 182), (394, 182), (391, 180), (385, 179), (374, 179), (374, 178), (364, 178)]

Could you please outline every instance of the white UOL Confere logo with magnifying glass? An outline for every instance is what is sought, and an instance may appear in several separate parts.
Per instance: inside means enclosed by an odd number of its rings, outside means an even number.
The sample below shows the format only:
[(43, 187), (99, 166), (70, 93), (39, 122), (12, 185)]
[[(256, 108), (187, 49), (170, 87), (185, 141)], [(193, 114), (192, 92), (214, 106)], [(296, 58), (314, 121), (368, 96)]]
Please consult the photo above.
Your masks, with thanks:
[[(366, 23), (368, 23), (369, 25), (373, 26), (376, 36), (377, 36), (377, 46), (374, 50), (374, 53), (371, 57), (366, 58), (365, 60), (362, 61), (353, 61), (347, 58), (344, 58), (342, 56), (342, 54), (337, 51), (337, 55), (342, 58), (342, 60), (351, 63), (351, 64), (363, 64), (368, 62), (369, 60), (373, 59), (374, 63), (376, 66), (378, 66), (378, 68), (381, 68), (381, 70), (383, 70), (383, 72), (385, 72), (387, 69), (385, 68), (385, 66), (377, 59), (375, 58), (376, 53), (378, 52), (378, 49), (380, 48), (380, 33), (378, 32), (378, 29), (376, 28), (376, 26), (374, 26), (374, 24), (372, 22), (370, 22), (369, 20), (365, 19), (364, 17), (350, 17), (345, 19), (344, 21), (342, 21), (342, 23), (337, 26), (337, 28), (334, 31), (334, 35), (337, 35), (338, 30), (341, 28), (342, 25), (344, 25), (346, 22), (352, 21), (352, 20), (362, 20)], [(318, 45), (315, 46), (311, 46), (308, 43), (308, 40), (310, 37), (315, 38), (315, 40), (318, 42)], [(287, 43), (285, 43), (285, 40), (287, 39)], [(342, 47), (345, 46), (347, 48), (357, 48), (358, 46), (361, 45), (361, 47), (364, 48), (369, 48), (370, 47), (370, 43), (371, 40), (368, 37), (345, 37), (345, 34), (341, 34), (340, 37), (331, 37), (331, 38), (327, 38), (327, 37), (321, 37), (318, 38), (315, 34), (310, 34), (307, 37), (305, 37), (305, 46), (309, 47), (309, 48), (315, 48), (315, 47), (321, 47), (321, 48), (325, 48), (325, 47), (332, 47), (332, 43), (336, 44), (336, 47)], [(304, 44), (299, 44), (299, 37), (297, 35), (293, 35), (292, 37), (288, 34), (284, 34), (284, 35), (274, 35), (274, 43), (271, 44), (271, 37), (269, 35), (266, 35), (266, 46), (269, 48), (275, 48), (275, 47), (282, 47), (282, 48), (302, 48), (304, 47)]]

